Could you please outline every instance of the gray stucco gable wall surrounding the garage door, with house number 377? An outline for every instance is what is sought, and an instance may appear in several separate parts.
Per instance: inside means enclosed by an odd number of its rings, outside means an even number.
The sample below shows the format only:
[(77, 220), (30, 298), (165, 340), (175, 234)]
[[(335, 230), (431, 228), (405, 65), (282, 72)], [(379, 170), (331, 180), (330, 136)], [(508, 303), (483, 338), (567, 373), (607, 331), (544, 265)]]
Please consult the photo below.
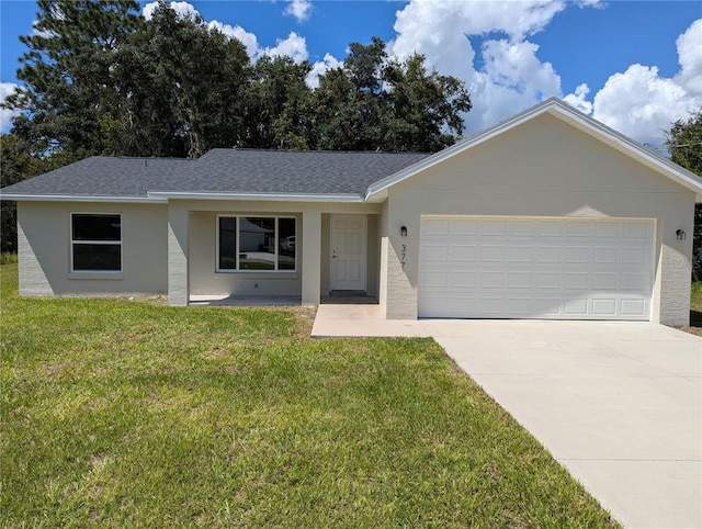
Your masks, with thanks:
[[(542, 115), (390, 188), (387, 317), (417, 317), (421, 215), (653, 218), (653, 319), (687, 324), (694, 193), (551, 115)], [(406, 225), (408, 237), (399, 236)], [(398, 271), (398, 255), (406, 262)]]

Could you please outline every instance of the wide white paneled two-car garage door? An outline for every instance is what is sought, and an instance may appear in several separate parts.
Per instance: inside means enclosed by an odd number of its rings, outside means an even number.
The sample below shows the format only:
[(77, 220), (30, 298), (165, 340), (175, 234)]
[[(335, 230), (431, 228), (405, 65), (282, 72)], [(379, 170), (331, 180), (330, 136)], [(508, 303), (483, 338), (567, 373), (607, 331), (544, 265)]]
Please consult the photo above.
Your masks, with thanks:
[(650, 318), (654, 222), (421, 220), (420, 317)]

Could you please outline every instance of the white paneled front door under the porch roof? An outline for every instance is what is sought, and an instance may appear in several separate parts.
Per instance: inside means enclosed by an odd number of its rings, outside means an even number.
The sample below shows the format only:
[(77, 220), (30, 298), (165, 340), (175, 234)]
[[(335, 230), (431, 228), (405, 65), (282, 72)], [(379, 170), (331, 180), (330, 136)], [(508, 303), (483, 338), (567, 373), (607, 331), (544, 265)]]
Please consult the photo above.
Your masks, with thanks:
[(365, 215), (331, 215), (331, 290), (365, 291)]

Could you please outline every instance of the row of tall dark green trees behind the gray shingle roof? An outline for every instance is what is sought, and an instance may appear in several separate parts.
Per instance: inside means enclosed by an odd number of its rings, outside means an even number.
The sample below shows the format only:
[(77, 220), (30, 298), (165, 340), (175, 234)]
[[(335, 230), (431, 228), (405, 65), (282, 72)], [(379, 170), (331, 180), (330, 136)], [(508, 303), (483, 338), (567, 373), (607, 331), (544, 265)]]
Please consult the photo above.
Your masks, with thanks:
[[(424, 58), (350, 44), (342, 67), (306, 80), (307, 61), (260, 56), (163, 0), (39, 0), (36, 32), (5, 108), (13, 134), (65, 161), (90, 155), (199, 157), (215, 147), (435, 151), (471, 101)], [(39, 148), (41, 146), (41, 148)]]

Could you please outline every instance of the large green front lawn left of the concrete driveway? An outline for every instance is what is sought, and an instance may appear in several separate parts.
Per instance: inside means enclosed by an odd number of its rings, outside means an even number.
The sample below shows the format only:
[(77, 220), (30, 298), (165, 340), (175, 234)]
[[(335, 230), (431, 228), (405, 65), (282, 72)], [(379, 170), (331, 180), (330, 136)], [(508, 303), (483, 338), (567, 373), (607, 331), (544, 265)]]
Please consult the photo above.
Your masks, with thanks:
[(0, 270), (2, 527), (616, 526), (431, 339)]

